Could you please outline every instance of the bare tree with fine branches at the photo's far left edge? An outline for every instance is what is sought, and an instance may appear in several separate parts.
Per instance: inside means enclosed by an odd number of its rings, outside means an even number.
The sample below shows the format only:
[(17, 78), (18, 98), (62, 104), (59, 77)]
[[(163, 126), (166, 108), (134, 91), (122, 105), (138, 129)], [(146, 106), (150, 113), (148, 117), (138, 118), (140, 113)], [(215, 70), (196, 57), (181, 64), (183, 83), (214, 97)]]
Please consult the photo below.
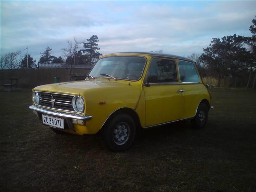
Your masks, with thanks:
[(5, 55), (1, 56), (1, 69), (17, 69), (20, 66), (21, 51), (13, 51), (9, 53), (5, 53)]

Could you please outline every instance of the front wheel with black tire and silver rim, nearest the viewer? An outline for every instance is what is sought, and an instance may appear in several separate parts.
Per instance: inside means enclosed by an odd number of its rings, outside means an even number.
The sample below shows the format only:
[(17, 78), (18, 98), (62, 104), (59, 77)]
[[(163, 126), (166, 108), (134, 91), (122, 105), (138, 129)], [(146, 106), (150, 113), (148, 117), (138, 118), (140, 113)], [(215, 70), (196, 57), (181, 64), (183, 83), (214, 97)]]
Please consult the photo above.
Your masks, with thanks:
[(132, 117), (119, 114), (110, 119), (102, 130), (102, 141), (113, 152), (127, 150), (134, 141), (136, 126)]

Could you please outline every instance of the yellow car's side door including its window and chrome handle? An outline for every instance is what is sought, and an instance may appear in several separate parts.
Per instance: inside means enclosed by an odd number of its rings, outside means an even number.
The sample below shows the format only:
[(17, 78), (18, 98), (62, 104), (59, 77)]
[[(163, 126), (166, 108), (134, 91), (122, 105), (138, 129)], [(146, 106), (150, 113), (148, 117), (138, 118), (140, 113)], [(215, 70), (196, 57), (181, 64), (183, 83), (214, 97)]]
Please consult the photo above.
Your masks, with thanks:
[(146, 127), (182, 119), (183, 89), (178, 83), (173, 59), (152, 58), (145, 86)]

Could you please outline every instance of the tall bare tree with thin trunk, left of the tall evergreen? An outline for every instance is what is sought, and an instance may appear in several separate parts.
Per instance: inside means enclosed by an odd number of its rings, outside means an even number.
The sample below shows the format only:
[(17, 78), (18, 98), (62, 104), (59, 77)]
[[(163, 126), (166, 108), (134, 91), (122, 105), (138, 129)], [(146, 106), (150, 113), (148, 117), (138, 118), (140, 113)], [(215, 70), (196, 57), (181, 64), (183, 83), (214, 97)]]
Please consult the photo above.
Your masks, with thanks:
[[(68, 40), (67, 42), (68, 42), (68, 47), (62, 48), (61, 50), (64, 51), (65, 57), (70, 57), (70, 71), (69, 72), (71, 73), (72, 58), (75, 55), (79, 46), (83, 43), (83, 41), (79, 41), (74, 37), (73, 40)], [(74, 57), (74, 63), (75, 63), (75, 57)]]

